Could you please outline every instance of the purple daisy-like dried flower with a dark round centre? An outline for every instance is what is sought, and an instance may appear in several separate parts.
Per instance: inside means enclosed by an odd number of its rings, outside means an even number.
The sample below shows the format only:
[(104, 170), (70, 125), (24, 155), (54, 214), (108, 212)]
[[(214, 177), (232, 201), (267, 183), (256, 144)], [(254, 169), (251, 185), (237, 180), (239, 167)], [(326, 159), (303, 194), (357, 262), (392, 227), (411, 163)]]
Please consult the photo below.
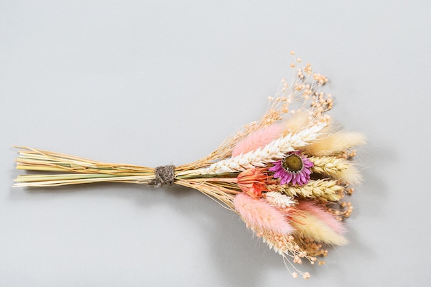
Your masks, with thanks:
[(269, 171), (274, 171), (274, 178), (280, 178), (280, 184), (292, 182), (292, 184), (304, 185), (310, 180), (311, 167), (313, 162), (305, 156), (301, 156), (300, 151), (288, 153), (286, 158), (274, 162), (274, 166)]

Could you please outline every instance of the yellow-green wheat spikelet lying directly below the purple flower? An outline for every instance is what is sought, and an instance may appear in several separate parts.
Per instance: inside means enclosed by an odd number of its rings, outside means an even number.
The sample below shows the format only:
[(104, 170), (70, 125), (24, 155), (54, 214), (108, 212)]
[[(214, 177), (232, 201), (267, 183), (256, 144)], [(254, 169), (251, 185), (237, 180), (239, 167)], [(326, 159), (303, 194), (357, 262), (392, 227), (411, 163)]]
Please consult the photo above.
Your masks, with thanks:
[(344, 187), (337, 184), (336, 180), (310, 180), (302, 187), (293, 187), (283, 184), (269, 184), (270, 191), (280, 191), (291, 197), (314, 198), (316, 200), (336, 202), (341, 199), (341, 191)]

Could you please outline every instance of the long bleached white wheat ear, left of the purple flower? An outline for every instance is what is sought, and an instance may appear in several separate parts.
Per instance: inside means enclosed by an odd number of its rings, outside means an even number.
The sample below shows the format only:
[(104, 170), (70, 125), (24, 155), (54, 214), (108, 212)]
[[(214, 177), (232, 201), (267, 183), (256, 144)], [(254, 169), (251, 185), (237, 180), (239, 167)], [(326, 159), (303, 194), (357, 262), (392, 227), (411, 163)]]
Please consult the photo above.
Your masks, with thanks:
[(296, 134), (288, 134), (287, 136), (273, 140), (268, 145), (260, 147), (255, 151), (215, 162), (207, 169), (201, 169), (200, 173), (227, 173), (244, 171), (253, 167), (265, 167), (270, 162), (284, 158), (286, 153), (295, 151), (295, 148), (304, 147), (313, 142), (324, 127), (324, 124), (317, 124)]

